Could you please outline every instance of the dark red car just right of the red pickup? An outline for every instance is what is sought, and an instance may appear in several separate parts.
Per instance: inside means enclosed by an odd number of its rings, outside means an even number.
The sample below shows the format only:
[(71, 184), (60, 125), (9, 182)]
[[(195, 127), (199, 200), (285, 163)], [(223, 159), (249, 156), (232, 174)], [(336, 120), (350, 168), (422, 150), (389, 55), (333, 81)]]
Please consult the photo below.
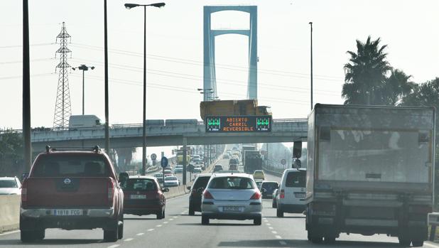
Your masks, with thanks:
[(121, 182), (124, 190), (124, 213), (131, 215), (157, 215), (165, 217), (166, 198), (156, 178), (152, 176), (130, 176)]

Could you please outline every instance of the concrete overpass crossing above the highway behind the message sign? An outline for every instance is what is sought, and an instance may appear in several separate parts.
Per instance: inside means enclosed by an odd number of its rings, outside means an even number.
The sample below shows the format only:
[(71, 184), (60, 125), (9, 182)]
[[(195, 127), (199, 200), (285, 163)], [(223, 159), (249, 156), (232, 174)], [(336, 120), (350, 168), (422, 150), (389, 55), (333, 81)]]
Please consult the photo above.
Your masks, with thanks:
[[(250, 144), (305, 141), (308, 133), (307, 119), (273, 119), (269, 133), (206, 133), (202, 122), (159, 122), (148, 124), (146, 146), (203, 144)], [(148, 121), (147, 121), (148, 123)], [(142, 146), (141, 124), (113, 125), (110, 129), (110, 146), (114, 149)], [(97, 126), (75, 130), (34, 130), (31, 134), (33, 151), (43, 151), (45, 145), (53, 147), (104, 146), (104, 128)]]

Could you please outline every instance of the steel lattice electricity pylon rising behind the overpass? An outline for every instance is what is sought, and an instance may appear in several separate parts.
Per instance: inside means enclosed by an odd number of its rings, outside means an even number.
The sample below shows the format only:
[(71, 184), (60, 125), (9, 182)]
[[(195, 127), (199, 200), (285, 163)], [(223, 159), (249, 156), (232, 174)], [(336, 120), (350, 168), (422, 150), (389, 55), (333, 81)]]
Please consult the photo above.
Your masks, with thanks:
[[(60, 34), (56, 36), (56, 40), (60, 42), (60, 48), (56, 53), (60, 54), (60, 63), (56, 66), (59, 70), (58, 76), (58, 90), (56, 94), (55, 102), (55, 115), (53, 117), (53, 127), (64, 129), (69, 124), (69, 118), (72, 114), (72, 107), (70, 105), (70, 90), (67, 68), (70, 68), (67, 63), (67, 54), (72, 51), (67, 48), (67, 39), (70, 38), (70, 34), (65, 29), (65, 23), (63, 22), (63, 28)], [(55, 53), (55, 54), (56, 54)], [(56, 70), (55, 69), (55, 70)]]

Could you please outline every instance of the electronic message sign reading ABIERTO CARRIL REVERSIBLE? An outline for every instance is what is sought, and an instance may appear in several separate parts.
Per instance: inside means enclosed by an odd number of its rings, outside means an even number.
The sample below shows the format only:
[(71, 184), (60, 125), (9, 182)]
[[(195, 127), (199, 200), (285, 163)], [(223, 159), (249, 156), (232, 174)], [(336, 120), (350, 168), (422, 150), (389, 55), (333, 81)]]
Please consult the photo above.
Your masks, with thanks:
[(206, 132), (270, 132), (271, 115), (206, 117)]

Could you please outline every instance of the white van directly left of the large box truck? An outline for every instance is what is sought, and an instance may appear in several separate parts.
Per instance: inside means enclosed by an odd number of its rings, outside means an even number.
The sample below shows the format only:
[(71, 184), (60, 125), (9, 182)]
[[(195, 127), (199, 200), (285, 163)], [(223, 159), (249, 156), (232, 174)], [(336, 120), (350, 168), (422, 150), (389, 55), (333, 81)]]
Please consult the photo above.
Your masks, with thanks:
[(277, 200), (277, 217), (283, 217), (284, 212), (303, 212), (305, 210), (306, 169), (291, 168), (283, 171), (279, 185)]

